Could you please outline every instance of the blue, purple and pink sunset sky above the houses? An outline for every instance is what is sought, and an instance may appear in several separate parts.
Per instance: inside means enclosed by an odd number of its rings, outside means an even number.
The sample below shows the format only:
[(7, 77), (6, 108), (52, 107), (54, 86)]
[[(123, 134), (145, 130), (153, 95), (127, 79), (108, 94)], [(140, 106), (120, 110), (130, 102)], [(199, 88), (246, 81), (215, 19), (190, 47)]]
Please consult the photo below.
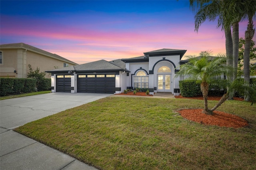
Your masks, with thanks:
[[(206, 21), (194, 32), (194, 13), (185, 0), (0, 1), (0, 44), (23, 42), (78, 64), (162, 48), (186, 49), (185, 55), (225, 53), (225, 35), (216, 23)], [(246, 20), (240, 23), (239, 37), (246, 27)]]

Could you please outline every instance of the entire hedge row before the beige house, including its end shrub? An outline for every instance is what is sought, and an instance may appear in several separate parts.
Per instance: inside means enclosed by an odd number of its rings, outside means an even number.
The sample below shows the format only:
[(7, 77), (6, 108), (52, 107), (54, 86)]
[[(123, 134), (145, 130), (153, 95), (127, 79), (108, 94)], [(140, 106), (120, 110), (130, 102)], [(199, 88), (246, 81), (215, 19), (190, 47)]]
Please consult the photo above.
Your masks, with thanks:
[[(36, 79), (30, 78), (0, 78), (0, 96), (31, 93), (35, 91)], [(38, 91), (50, 90), (51, 79), (42, 79)]]

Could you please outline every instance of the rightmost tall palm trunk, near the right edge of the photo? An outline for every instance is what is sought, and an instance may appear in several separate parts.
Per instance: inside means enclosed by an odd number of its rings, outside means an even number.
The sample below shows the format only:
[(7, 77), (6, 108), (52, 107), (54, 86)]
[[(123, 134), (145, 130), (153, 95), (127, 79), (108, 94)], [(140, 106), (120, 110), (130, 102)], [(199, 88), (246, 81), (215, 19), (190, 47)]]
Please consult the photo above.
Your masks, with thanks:
[[(249, 24), (245, 31), (245, 43), (244, 43), (244, 83), (250, 84), (250, 45), (254, 36), (255, 29), (253, 29), (252, 18), (249, 18)], [(249, 101), (249, 93), (245, 91), (244, 100)]]

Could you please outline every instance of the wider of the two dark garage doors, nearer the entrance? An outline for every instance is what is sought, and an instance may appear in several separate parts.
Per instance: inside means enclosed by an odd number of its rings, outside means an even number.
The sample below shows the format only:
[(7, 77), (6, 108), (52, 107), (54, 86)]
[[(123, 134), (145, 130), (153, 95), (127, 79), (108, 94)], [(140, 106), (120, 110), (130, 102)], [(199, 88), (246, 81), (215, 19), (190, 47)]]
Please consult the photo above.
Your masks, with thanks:
[(78, 93), (115, 93), (114, 74), (93, 74), (77, 76)]

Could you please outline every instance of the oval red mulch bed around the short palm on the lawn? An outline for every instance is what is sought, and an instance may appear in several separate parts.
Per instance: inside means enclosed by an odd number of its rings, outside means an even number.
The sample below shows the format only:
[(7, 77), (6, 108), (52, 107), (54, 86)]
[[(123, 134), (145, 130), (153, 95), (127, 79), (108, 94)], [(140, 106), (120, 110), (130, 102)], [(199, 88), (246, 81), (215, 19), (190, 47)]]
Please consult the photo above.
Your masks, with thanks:
[(245, 127), (248, 122), (241, 117), (229, 113), (214, 111), (213, 115), (202, 113), (203, 109), (184, 109), (178, 111), (182, 117), (190, 121), (198, 122), (204, 125), (216, 125), (220, 127)]

